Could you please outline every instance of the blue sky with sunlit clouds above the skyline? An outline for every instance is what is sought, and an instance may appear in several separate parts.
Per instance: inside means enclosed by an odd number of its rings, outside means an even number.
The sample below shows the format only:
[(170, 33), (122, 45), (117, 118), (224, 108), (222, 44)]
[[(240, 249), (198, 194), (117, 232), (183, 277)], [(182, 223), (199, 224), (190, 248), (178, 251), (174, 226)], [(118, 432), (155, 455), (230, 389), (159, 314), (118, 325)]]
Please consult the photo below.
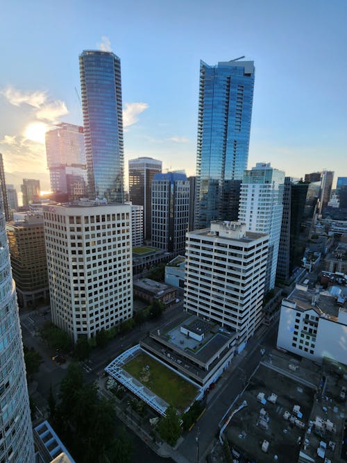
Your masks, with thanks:
[(44, 131), (83, 124), (78, 55), (121, 58), (124, 170), (195, 174), (200, 60), (255, 62), (248, 168), (347, 176), (345, 0), (1, 1), (0, 152), (8, 183), (49, 190)]

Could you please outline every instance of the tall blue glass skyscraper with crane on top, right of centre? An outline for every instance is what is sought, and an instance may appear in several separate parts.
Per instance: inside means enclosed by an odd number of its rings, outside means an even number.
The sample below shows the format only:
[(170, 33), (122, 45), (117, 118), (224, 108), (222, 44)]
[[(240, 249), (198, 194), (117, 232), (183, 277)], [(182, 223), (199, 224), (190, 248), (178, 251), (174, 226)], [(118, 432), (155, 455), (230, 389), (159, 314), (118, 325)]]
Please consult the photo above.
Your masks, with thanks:
[(247, 168), (254, 73), (253, 61), (201, 61), (195, 228), (230, 220), (232, 180), (242, 180)]

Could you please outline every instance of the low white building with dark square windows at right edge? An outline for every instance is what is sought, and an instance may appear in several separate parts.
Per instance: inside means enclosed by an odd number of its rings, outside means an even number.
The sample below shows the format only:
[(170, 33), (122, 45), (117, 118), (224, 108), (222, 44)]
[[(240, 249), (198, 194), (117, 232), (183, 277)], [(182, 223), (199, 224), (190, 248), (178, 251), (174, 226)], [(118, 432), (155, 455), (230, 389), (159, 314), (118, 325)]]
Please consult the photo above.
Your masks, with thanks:
[(315, 362), (330, 357), (347, 364), (345, 285), (334, 283), (318, 292), (307, 285), (296, 285), (282, 301), (277, 346)]

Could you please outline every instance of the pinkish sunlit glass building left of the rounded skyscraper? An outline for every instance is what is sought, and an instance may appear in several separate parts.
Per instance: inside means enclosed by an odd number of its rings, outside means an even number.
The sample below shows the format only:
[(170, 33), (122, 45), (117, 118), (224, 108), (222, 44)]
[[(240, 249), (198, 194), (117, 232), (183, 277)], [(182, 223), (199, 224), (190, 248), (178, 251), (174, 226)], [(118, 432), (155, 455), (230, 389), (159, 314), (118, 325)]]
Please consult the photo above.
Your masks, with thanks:
[[(46, 132), (46, 156), (51, 191), (66, 193), (71, 199), (85, 196), (87, 169), (83, 127), (62, 123)], [(73, 181), (71, 177), (74, 177)], [(83, 187), (78, 187), (76, 190), (74, 188), (76, 182)]]

